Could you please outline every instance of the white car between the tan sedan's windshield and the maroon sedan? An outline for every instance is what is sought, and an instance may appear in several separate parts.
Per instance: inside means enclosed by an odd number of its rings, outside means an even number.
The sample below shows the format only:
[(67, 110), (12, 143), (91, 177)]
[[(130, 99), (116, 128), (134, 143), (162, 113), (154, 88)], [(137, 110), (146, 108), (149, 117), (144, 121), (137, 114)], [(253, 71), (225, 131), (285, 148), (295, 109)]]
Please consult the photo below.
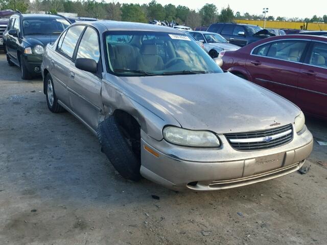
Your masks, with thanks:
[(190, 32), (197, 41), (203, 42), (204, 50), (212, 58), (217, 58), (221, 51), (235, 51), (240, 47), (229, 43), (224, 37), (212, 32)]

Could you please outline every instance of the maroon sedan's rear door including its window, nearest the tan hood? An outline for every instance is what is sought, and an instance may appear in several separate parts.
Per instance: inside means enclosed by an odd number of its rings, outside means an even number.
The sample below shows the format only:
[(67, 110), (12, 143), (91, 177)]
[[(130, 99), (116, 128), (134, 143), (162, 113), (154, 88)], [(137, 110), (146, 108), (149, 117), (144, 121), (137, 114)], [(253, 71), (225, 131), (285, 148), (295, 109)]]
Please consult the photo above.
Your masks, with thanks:
[(246, 60), (252, 81), (297, 104), (296, 87), (308, 41), (287, 39), (261, 44)]

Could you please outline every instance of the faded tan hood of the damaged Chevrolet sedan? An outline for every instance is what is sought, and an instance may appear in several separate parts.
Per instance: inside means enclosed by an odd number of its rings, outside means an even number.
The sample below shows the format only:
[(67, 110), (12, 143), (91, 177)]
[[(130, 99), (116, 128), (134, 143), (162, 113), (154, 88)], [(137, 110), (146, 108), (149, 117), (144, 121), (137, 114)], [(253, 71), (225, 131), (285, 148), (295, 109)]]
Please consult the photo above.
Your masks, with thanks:
[(133, 100), (186, 129), (247, 132), (294, 122), (299, 109), (258, 85), (222, 74), (120, 77)]

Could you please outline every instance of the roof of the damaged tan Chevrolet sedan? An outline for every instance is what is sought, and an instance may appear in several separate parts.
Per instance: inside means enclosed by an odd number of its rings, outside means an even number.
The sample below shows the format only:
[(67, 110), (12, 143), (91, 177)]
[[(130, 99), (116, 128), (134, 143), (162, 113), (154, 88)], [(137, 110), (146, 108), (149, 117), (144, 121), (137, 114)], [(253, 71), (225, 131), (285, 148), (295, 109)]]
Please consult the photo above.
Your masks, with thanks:
[(97, 20), (97, 21), (80, 21), (76, 24), (86, 24), (104, 31), (150, 31), (150, 32), (173, 32), (182, 33), (176, 28), (158, 26), (157, 24), (146, 24), (136, 22), (114, 21), (114, 20)]

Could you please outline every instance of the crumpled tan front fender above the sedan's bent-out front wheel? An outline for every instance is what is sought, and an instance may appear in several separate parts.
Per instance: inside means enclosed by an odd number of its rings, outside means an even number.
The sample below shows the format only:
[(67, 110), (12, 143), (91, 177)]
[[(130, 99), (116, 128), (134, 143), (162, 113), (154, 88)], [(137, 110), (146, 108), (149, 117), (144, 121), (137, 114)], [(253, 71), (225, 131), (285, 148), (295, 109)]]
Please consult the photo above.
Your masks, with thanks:
[(141, 129), (151, 138), (161, 140), (162, 129), (166, 125), (181, 127), (178, 121), (172, 116), (163, 116), (155, 113), (150, 106), (144, 106), (126, 94), (119, 86), (103, 80), (101, 96), (104, 105), (105, 118), (111, 116), (115, 110), (123, 110), (132, 115)]

